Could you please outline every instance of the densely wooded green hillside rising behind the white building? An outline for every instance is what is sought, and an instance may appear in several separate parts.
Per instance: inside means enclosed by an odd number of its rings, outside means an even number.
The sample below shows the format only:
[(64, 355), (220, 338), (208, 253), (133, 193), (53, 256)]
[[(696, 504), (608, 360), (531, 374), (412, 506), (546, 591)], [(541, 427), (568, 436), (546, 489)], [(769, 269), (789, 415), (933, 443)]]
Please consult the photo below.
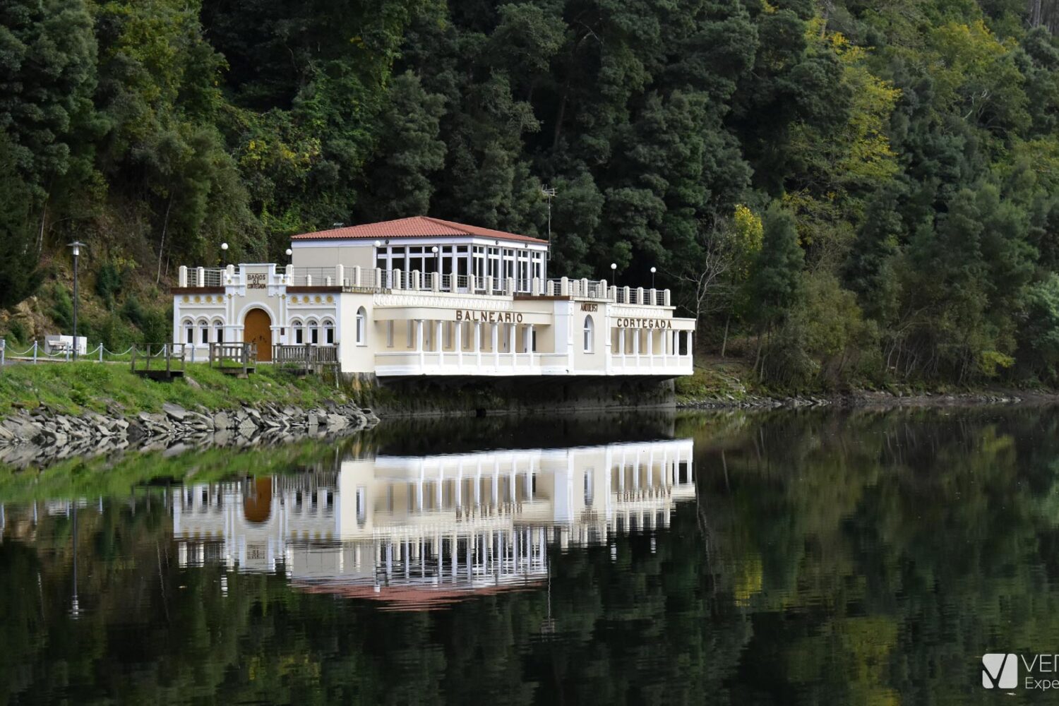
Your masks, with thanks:
[[(1059, 381), (1059, 0), (5, 0), (0, 307), (430, 214), (678, 292), (782, 385)], [(26, 304), (0, 319), (37, 333)], [(14, 309), (13, 309), (14, 310)], [(30, 322), (30, 323), (26, 323)]]

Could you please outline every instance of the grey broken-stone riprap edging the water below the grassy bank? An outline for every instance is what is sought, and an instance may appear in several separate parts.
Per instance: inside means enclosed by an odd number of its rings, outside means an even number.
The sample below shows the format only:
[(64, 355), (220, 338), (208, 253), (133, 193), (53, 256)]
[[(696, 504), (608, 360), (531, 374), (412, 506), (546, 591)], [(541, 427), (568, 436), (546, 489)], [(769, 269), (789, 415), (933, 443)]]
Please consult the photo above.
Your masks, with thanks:
[(0, 464), (47, 466), (122, 449), (177, 453), (196, 446), (281, 443), (370, 429), (378, 421), (371, 410), (352, 403), (325, 403), (309, 410), (263, 404), (210, 411), (166, 402), (162, 412), (134, 416), (59, 414), (41, 406), (20, 410), (0, 421)]

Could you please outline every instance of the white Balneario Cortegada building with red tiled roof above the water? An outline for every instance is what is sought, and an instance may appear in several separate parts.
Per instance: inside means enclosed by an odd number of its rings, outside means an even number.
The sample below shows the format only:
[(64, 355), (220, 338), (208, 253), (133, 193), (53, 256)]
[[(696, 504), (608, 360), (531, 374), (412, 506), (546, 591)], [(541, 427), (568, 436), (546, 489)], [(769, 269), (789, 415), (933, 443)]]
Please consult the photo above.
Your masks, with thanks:
[(181, 267), (173, 340), (330, 348), (341, 372), (410, 376), (692, 374), (669, 290), (549, 278), (549, 243), (426, 216), (291, 238), (291, 263)]

